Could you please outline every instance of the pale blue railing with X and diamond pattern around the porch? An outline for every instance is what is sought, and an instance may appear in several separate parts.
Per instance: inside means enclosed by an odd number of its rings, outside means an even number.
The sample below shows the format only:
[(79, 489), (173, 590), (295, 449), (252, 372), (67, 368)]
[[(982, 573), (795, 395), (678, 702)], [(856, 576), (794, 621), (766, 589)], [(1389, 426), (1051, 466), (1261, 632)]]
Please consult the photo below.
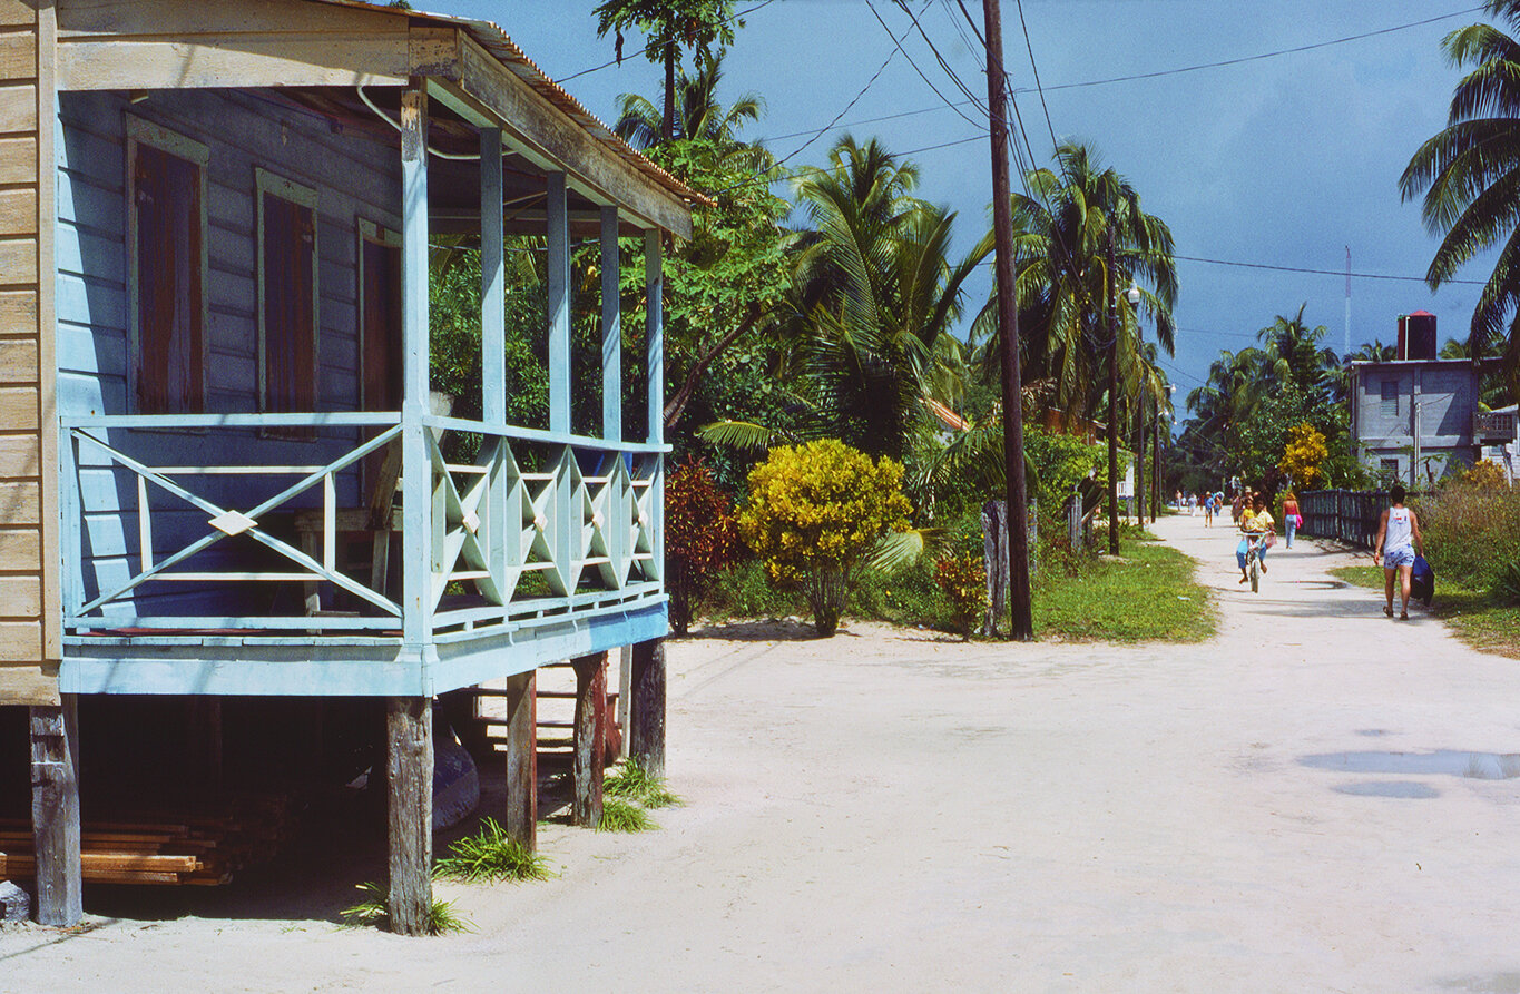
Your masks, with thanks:
[[(272, 465), (249, 462), (246, 454), (289, 451), (289, 442), (278, 445), (268, 439), (268, 447), (263, 445), (266, 439), (248, 445), (231, 444), (231, 439), (223, 445), (204, 444), (207, 438), (216, 438), (208, 435), (214, 429), (246, 433), (296, 424), (347, 432), (344, 451), (324, 465)], [(354, 429), (374, 436), (356, 444)], [(166, 430), (199, 433), (199, 448), (225, 454), (230, 464), (170, 467), (132, 454), (163, 451)], [(152, 441), (144, 441), (144, 432)], [(401, 444), (403, 432), (397, 415), (65, 419), (62, 505), (65, 520), (76, 524), (64, 529), (65, 628), (394, 632), (404, 620), (404, 606), (388, 594), (386, 587), (401, 588), (401, 584), (397, 578), (391, 584), (371, 584), (368, 575), (360, 578), (353, 575), (354, 570), (342, 568), (336, 549), (348, 518), (337, 508), (337, 494), (345, 474), (357, 473), (362, 461), (385, 447)], [(427, 555), (415, 568), (429, 570), (427, 608), (435, 634), (628, 609), (663, 599), (658, 505), (664, 447), (602, 442), (530, 429), (492, 429), (447, 416), (424, 418), (421, 432), (430, 468), (429, 527), (424, 541)], [(479, 454), (470, 462), (450, 462), (445, 456), (450, 433), (476, 435), (480, 439)], [(140, 448), (137, 442), (143, 442)], [(233, 456), (243, 459), (233, 464)], [(105, 465), (129, 477), (131, 486), (117, 485), (117, 491), (135, 492), (135, 502), (119, 497), (119, 506), (103, 511), (87, 508), (82, 462), (90, 462), (93, 470)], [(239, 483), (220, 488), (196, 483), (228, 477)], [(261, 499), (258, 494), (274, 486), (242, 483), (278, 477), (293, 477), (293, 482)], [(225, 499), (228, 492), (249, 495), (246, 502), (237, 502), (239, 506), (230, 506), (234, 502)], [(398, 494), (404, 492), (403, 482)], [(319, 499), (313, 500), (313, 494)], [(161, 515), (170, 512), (169, 505), (173, 505), (179, 521), (160, 527)], [(187, 529), (185, 506), (204, 515), (201, 527)], [(321, 533), (304, 547), (296, 547), (289, 527), (281, 524), (289, 521), (290, 512), (321, 521)], [(102, 517), (114, 517), (122, 533), (135, 532), (138, 537), (137, 562), (126, 579), (105, 582), (99, 571), (91, 573), (99, 567), (87, 559), (79, 538), (87, 533), (87, 517), (96, 523)], [(161, 546), (170, 541), (170, 533), (178, 549), (166, 550)], [(263, 549), (261, 562), (246, 561), (245, 553), (237, 553), (216, 558), (211, 568), (176, 568), (234, 537), (257, 543)], [(269, 559), (278, 561), (280, 568), (268, 568)], [(413, 564), (392, 559), (392, 568), (407, 570)], [(99, 587), (90, 596), (85, 594), (87, 575)], [(281, 616), (274, 608), (230, 613), (213, 606), (198, 613), (181, 606), (169, 616), (144, 613), (140, 603), (141, 597), (169, 584), (181, 591), (196, 587), (207, 591), (208, 605), (225, 603), (226, 597), (217, 600), (211, 594), (214, 588), (220, 585), (225, 591), (226, 584), (251, 582), (299, 584), (304, 588), (325, 585), (345, 591), (360, 609)], [(178, 600), (184, 603), (185, 599)], [(268, 603), (277, 600), (271, 597)], [(283, 602), (301, 603), (301, 599), (284, 597)]]

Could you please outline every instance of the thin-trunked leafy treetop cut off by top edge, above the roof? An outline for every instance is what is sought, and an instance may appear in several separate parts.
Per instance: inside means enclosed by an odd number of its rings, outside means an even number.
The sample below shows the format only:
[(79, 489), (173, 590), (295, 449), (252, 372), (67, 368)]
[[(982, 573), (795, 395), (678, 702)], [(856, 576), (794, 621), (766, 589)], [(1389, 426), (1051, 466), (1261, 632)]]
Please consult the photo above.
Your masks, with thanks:
[(605, 0), (593, 11), (596, 32), (617, 40), (617, 61), (623, 61), (623, 32), (640, 30), (648, 40), (644, 55), (664, 65), (664, 116), (661, 135), (675, 138), (675, 71), (684, 49), (695, 49), (705, 59), (713, 46), (734, 43), (733, 0)]

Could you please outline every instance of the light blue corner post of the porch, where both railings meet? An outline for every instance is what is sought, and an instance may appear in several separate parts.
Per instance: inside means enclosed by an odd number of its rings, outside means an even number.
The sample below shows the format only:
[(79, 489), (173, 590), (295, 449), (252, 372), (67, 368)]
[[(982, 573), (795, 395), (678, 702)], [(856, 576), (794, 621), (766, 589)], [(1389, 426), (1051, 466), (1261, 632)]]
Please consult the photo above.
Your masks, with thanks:
[(432, 629), (432, 462), (423, 418), (429, 412), (427, 351), (427, 90), (413, 79), (401, 93), (401, 635), (421, 654)]

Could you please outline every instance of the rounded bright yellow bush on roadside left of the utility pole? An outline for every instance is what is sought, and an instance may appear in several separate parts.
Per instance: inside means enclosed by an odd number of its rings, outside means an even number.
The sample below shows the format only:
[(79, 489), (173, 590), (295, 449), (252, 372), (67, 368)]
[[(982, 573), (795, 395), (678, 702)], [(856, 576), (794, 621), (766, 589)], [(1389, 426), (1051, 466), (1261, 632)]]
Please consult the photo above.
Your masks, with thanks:
[(824, 439), (772, 448), (749, 471), (739, 535), (771, 581), (801, 588), (818, 634), (839, 628), (860, 564), (888, 532), (907, 527), (903, 467)]

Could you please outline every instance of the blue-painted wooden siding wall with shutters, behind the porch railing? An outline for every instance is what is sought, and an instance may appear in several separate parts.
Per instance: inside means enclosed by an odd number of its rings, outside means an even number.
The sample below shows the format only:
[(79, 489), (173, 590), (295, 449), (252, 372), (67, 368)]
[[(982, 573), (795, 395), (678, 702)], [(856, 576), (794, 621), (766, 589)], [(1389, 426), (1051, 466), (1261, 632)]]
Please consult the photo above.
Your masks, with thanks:
[[(155, 91), (129, 103), (116, 93), (64, 93), (58, 129), (58, 353), (59, 406), (65, 413), (128, 413), (129, 257), (126, 245), (126, 138), (125, 114), (132, 114), (210, 146), (210, 315), (207, 327), (207, 409), (258, 409), (257, 343), (257, 231), (254, 169), (264, 167), (318, 190), (319, 252), (319, 410), (359, 407), (357, 234), (356, 217), (398, 226), (400, 154), (366, 138), (333, 134), (325, 120), (275, 103), (258, 91)], [(258, 438), (248, 432), (150, 435), (114, 433), (112, 442), (147, 462), (185, 464), (304, 464), (321, 465), (345, 445), (356, 444), (324, 433), (319, 442)], [(255, 457), (248, 457), (252, 448)], [(111, 470), (99, 450), (82, 453), (84, 535), (88, 567), (85, 596), (126, 582), (138, 568), (135, 477)], [(290, 477), (266, 477), (255, 489), (275, 492)], [(188, 485), (223, 506), (246, 508), (248, 483), (230, 477), (198, 477)], [(357, 480), (347, 480), (340, 500), (357, 500)], [(319, 491), (309, 492), (310, 502)], [(152, 492), (155, 547), (166, 555), (205, 533), (205, 515)], [(175, 512), (175, 506), (181, 511)], [(246, 555), (248, 540), (228, 540), (187, 562), (187, 568), (216, 568), (230, 556)], [(248, 568), (248, 562), (242, 564)], [(266, 562), (286, 570), (284, 561)], [(228, 609), (257, 614), (268, 609), (271, 585), (245, 590), (220, 585), (214, 600), (207, 590), (166, 591), (138, 597), (140, 614)], [(246, 602), (245, 596), (263, 600)], [(220, 603), (222, 608), (214, 608)], [(125, 605), (122, 608), (126, 609)], [(284, 611), (293, 609), (283, 605)]]

